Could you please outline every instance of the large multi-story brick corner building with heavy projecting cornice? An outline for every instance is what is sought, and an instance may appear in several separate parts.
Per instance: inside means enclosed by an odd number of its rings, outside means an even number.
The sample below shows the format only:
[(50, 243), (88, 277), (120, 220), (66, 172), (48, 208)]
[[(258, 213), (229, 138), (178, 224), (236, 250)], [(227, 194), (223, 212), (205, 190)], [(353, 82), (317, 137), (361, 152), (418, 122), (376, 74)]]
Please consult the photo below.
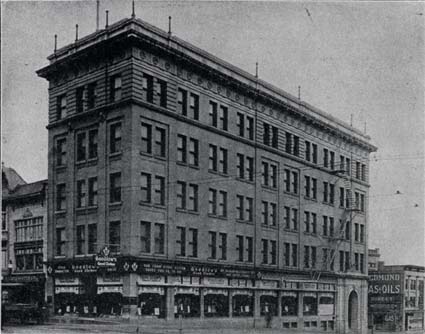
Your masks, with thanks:
[(366, 330), (368, 136), (134, 17), (48, 59), (56, 311)]

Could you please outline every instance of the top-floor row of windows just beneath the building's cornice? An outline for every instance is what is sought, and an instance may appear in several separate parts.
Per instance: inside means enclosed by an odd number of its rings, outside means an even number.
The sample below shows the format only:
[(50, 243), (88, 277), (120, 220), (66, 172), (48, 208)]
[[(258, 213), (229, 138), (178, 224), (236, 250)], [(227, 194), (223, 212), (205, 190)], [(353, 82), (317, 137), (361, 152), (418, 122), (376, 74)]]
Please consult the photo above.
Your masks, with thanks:
[[(163, 108), (167, 108), (167, 82), (155, 78), (154, 76), (143, 74), (143, 98), (149, 103), (156, 103)], [(122, 77), (120, 74), (110, 77), (109, 84), (109, 100), (116, 102), (122, 98)], [(97, 101), (97, 85), (90, 83), (76, 89), (76, 105), (77, 112), (83, 112), (96, 106)], [(155, 95), (157, 96), (155, 98)], [(191, 92), (187, 89), (179, 87), (177, 89), (177, 112), (185, 117), (189, 117), (199, 121), (200, 115), (200, 95)], [(223, 131), (229, 131), (229, 108), (228, 106), (218, 103), (214, 100), (209, 100), (208, 124)], [(57, 119), (66, 117), (67, 112), (67, 94), (62, 94), (57, 97), (56, 114)], [(236, 133), (240, 137), (254, 140), (255, 121), (254, 117), (243, 112), (236, 114)], [(282, 131), (276, 126), (268, 122), (262, 122), (263, 134), (262, 143), (276, 149), (279, 147), (279, 137)], [(318, 164), (318, 145), (309, 140), (304, 141), (304, 159), (306, 161)], [(301, 157), (301, 140), (300, 137), (284, 131), (284, 147), (282, 150), (286, 153)], [(366, 163), (362, 161), (351, 161), (350, 158), (340, 155), (339, 166), (336, 166), (335, 152), (328, 148), (323, 148), (323, 163), (321, 166), (329, 170), (338, 170), (350, 175), (354, 168), (354, 176), (366, 181)]]

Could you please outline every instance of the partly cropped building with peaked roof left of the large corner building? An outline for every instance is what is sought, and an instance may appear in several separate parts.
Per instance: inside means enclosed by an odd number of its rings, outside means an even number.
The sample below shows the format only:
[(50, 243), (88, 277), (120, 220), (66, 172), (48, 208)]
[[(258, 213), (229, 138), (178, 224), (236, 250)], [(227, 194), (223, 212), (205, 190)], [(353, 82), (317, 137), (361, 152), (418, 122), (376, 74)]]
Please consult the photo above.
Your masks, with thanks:
[(47, 180), (26, 183), (13, 169), (2, 169), (3, 290), (19, 286), (21, 301), (44, 302)]

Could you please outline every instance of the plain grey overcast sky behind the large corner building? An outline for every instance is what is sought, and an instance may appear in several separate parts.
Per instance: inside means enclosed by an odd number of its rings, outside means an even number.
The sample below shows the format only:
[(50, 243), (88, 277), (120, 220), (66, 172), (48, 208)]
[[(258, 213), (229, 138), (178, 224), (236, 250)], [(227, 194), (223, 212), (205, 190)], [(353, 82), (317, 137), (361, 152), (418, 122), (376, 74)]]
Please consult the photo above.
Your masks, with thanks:
[[(109, 22), (131, 1), (100, 1)], [(424, 4), (145, 2), (136, 16), (366, 131), (369, 247), (388, 264), (424, 265)], [(28, 182), (47, 177), (47, 82), (35, 71), (95, 30), (96, 1), (2, 2), (2, 160)], [(396, 192), (400, 194), (396, 195)]]

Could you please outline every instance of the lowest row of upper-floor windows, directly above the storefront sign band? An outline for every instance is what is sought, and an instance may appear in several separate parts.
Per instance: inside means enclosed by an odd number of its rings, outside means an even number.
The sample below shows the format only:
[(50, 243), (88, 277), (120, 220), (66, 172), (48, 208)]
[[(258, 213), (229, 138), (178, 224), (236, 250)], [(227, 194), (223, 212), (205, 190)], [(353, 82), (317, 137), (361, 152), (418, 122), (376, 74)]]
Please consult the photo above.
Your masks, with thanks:
[[(121, 235), (120, 222), (113, 221), (109, 224), (108, 245), (110, 249), (120, 252)], [(97, 224), (77, 225), (75, 235), (75, 253), (77, 255), (95, 254), (99, 248), (97, 245)], [(202, 244), (199, 243), (200, 231), (197, 228), (177, 226), (175, 231), (175, 252), (179, 257), (198, 258)], [(202, 232), (204, 233), (204, 232)], [(237, 262), (253, 263), (254, 261), (254, 238), (246, 235), (236, 235), (235, 240), (229, 243), (228, 234), (220, 231), (206, 231), (204, 251), (210, 260), (229, 260), (228, 250), (231, 247), (231, 260)], [(165, 255), (165, 224), (150, 221), (140, 222), (139, 250), (144, 254)], [(56, 255), (65, 255), (67, 239), (64, 227), (56, 229)], [(318, 250), (322, 249), (321, 269), (335, 270), (335, 252), (332, 249), (317, 246), (304, 246), (303, 268), (318, 268)], [(282, 247), (283, 265), (298, 267), (298, 244), (284, 242)], [(261, 239), (261, 264), (276, 266), (278, 264), (277, 241), (273, 239)], [(364, 255), (354, 253), (354, 263), (351, 265), (349, 253), (340, 252), (340, 271), (364, 272)], [(354, 268), (353, 268), (354, 267)]]

